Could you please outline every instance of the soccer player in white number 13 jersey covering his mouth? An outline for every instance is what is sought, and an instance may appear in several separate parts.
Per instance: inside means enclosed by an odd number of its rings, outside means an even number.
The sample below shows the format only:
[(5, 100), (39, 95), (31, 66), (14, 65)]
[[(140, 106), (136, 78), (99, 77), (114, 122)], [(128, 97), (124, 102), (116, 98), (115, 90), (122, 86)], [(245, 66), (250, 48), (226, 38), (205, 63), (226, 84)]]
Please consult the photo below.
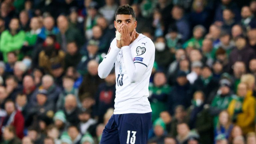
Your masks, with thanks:
[(116, 38), (98, 67), (100, 78), (106, 78), (114, 66), (116, 75), (115, 110), (100, 144), (146, 144), (152, 112), (148, 85), (155, 46), (150, 38), (136, 32), (135, 12), (129, 5), (117, 9), (114, 25)]

